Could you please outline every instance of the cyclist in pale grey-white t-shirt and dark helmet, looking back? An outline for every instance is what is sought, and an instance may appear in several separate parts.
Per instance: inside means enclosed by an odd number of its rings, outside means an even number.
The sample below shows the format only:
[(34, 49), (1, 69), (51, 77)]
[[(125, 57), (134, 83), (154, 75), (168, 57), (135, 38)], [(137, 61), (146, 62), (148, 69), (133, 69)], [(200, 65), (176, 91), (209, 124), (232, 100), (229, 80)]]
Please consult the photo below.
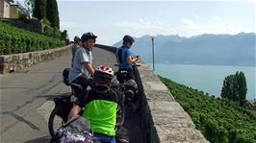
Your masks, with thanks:
[(93, 76), (94, 70), (92, 68), (92, 54), (91, 50), (96, 41), (95, 35), (86, 33), (81, 36), (82, 46), (78, 47), (75, 53), (72, 67), (68, 74), (69, 83), (76, 83), (82, 85), (84, 89), (89, 84), (90, 76)]

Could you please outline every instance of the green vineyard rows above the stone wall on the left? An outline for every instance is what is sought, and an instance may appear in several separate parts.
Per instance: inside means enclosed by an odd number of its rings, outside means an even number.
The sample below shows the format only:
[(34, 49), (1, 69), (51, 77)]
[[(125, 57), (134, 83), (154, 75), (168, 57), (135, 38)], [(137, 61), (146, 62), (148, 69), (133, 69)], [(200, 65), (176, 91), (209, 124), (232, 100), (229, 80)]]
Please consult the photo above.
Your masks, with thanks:
[(64, 41), (0, 22), (0, 55), (40, 51), (64, 46)]

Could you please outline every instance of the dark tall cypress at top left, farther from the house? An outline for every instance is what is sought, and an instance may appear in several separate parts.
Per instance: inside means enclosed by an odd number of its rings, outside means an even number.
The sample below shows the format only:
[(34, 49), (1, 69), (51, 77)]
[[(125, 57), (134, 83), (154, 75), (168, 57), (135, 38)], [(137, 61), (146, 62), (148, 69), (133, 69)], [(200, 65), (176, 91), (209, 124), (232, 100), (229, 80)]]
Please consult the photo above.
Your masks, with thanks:
[(46, 18), (51, 22), (52, 27), (60, 29), (60, 19), (56, 0), (46, 0)]

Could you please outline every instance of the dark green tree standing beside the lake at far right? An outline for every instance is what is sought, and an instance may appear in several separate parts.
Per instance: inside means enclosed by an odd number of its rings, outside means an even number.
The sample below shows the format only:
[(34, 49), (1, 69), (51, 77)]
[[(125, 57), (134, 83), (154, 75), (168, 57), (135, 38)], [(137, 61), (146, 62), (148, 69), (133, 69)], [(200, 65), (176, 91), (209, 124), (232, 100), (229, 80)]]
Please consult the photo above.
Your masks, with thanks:
[(239, 102), (244, 105), (246, 99), (246, 79), (243, 72), (236, 72), (235, 75), (227, 76), (223, 81), (221, 97)]

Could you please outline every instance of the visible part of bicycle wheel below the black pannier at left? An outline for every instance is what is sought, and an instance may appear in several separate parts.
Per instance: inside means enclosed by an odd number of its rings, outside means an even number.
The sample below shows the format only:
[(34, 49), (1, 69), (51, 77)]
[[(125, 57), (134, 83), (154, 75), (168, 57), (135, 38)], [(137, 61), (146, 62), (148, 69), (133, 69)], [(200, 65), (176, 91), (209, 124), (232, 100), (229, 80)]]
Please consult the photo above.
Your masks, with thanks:
[(60, 107), (54, 107), (48, 120), (48, 130), (51, 136), (55, 136), (56, 131), (64, 125), (64, 120), (57, 115), (57, 112), (61, 109)]

